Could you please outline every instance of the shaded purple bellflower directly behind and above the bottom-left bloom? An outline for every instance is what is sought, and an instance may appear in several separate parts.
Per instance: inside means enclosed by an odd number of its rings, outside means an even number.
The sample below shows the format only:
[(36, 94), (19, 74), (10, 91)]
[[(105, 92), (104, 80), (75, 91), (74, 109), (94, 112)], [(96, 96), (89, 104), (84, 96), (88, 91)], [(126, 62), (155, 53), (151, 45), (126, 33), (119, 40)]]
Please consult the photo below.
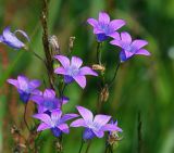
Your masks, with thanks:
[[(32, 95), (30, 100), (37, 103), (38, 113), (46, 113), (60, 110), (62, 104), (67, 103), (69, 99), (63, 97), (58, 99), (55, 92), (52, 89), (46, 89), (42, 95)], [(62, 104), (61, 104), (62, 101)]]

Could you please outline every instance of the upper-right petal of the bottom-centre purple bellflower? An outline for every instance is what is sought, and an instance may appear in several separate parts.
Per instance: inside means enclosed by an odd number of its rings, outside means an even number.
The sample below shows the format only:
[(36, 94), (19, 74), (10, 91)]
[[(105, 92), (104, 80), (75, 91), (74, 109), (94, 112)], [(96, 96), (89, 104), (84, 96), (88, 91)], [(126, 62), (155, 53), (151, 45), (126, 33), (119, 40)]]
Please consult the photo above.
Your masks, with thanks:
[(105, 125), (110, 120), (111, 116), (108, 115), (96, 115), (94, 119), (94, 124), (98, 124), (100, 127)]

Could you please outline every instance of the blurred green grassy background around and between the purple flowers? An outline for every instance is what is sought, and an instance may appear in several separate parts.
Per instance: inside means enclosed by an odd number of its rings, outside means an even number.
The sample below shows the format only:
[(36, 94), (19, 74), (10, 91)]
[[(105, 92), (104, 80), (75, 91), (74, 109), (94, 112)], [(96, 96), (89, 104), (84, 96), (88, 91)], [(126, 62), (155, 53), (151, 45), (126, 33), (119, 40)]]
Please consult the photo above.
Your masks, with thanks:
[[(134, 38), (149, 41), (150, 58), (136, 56), (122, 64), (116, 82), (110, 91), (102, 112), (117, 118), (123, 128), (123, 139), (116, 153), (136, 153), (137, 117), (141, 114), (142, 153), (174, 153), (174, 1), (173, 0), (50, 0), (49, 33), (57, 35), (61, 51), (67, 52), (69, 38), (75, 36), (73, 54), (84, 59), (85, 64), (96, 62), (96, 39), (86, 24), (88, 17), (98, 17), (107, 11), (112, 18), (124, 18)], [(0, 31), (7, 25), (12, 30), (25, 30), (32, 42), (29, 47), (44, 56), (40, 25), (41, 0), (0, 0)], [(109, 42), (109, 41), (108, 41)], [(113, 76), (117, 49), (104, 42), (103, 63), (107, 79)], [(29, 78), (47, 78), (41, 62), (24, 50), (15, 51), (0, 44), (0, 153), (12, 152), (14, 141), (12, 125), (20, 126), (24, 105), (18, 101), (14, 87), (7, 78), (25, 74)], [(88, 77), (85, 90), (73, 84), (65, 90), (70, 103), (66, 112), (75, 112), (80, 104), (97, 110), (98, 79)], [(44, 88), (44, 86), (42, 86)], [(28, 116), (32, 113), (28, 113)], [(28, 117), (28, 122), (30, 117)], [(64, 136), (64, 153), (76, 153), (80, 144), (80, 128), (71, 129)], [(42, 133), (41, 153), (55, 152), (54, 138), (49, 131)], [(101, 153), (104, 139), (95, 139), (90, 153)]]

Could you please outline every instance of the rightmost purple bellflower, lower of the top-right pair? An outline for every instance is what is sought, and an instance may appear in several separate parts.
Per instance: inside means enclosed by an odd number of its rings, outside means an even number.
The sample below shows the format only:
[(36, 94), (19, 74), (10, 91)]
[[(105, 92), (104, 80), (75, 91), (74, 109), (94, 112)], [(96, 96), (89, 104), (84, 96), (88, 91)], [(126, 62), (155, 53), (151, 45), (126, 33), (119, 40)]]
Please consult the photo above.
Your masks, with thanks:
[(150, 55), (149, 51), (142, 49), (142, 47), (148, 44), (148, 41), (140, 39), (133, 41), (130, 35), (126, 31), (121, 33), (121, 38), (117, 39), (116, 37), (116, 39), (112, 40), (110, 43), (122, 48), (120, 53), (121, 62), (125, 62), (136, 54)]

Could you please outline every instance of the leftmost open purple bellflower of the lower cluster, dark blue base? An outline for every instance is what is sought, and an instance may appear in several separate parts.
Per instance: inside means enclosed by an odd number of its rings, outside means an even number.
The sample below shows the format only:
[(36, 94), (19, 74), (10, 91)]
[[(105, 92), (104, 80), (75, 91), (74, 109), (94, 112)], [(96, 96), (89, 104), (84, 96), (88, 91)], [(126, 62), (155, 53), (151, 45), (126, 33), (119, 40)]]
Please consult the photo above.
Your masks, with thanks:
[(29, 80), (25, 76), (18, 76), (17, 79), (8, 79), (8, 82), (17, 88), (20, 99), (24, 103), (27, 103), (29, 101), (32, 94), (41, 94), (41, 91), (36, 89), (40, 86), (39, 80)]

